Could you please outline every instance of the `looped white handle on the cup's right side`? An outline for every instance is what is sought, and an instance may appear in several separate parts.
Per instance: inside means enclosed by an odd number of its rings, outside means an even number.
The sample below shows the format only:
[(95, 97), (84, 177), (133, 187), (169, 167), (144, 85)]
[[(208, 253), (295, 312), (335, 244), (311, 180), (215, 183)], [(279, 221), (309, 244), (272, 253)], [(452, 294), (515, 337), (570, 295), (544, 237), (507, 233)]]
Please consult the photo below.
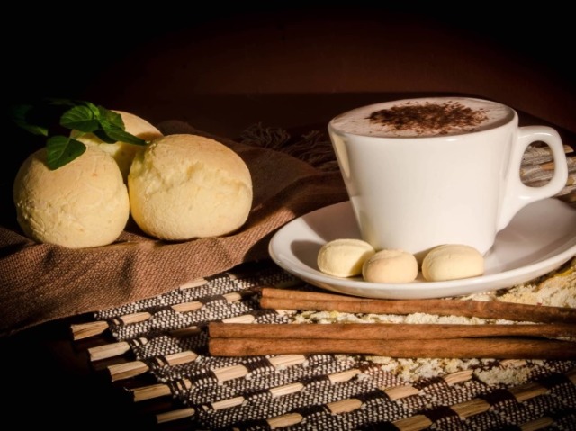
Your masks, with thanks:
[[(522, 157), (527, 147), (536, 141), (542, 141), (552, 150), (554, 175), (545, 185), (529, 187), (522, 183), (519, 175)], [(508, 226), (510, 220), (530, 202), (540, 201), (560, 193), (568, 181), (568, 163), (563, 142), (556, 130), (547, 126), (525, 126), (518, 128), (516, 145), (512, 150), (507, 190), (500, 211), (498, 230)]]

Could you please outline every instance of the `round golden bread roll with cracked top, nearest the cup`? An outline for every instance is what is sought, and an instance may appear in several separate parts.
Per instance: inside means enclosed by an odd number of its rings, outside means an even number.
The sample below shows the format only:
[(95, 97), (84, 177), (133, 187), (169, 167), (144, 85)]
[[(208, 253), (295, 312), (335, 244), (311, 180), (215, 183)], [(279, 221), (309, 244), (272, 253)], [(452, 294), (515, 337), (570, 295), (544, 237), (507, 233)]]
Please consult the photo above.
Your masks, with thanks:
[(232, 149), (192, 134), (156, 139), (128, 175), (132, 218), (148, 235), (185, 240), (229, 234), (247, 220), (252, 179)]

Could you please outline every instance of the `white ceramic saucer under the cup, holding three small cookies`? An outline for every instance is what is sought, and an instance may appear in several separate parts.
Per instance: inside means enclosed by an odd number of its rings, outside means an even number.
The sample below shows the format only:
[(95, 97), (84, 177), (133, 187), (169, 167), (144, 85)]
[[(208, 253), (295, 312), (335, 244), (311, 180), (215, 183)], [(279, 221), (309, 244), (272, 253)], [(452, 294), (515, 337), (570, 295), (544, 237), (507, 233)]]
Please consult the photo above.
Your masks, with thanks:
[(340, 202), (295, 219), (279, 229), (268, 250), (291, 274), (332, 292), (366, 298), (427, 299), (467, 295), (525, 283), (576, 256), (576, 210), (557, 199), (527, 205), (518, 212), (485, 258), (481, 277), (449, 282), (368, 283), (361, 278), (323, 274), (316, 257), (336, 238), (360, 238), (350, 202)]

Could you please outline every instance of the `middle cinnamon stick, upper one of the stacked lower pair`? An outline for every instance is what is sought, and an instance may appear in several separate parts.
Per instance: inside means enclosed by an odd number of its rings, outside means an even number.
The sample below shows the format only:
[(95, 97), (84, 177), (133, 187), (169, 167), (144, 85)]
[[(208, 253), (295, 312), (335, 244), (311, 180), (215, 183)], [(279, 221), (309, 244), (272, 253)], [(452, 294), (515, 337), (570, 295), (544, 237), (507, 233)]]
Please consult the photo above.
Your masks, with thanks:
[(212, 338), (260, 339), (418, 340), (477, 337), (540, 337), (573, 338), (576, 340), (576, 325), (560, 323), (468, 325), (436, 323), (245, 324), (210, 322), (208, 335)]

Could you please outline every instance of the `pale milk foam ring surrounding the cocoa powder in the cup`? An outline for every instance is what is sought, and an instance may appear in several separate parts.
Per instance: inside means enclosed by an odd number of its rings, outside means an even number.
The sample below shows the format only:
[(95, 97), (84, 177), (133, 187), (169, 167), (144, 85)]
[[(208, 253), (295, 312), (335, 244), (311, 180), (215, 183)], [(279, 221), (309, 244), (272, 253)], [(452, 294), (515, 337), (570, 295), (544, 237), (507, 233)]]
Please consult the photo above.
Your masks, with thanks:
[[(455, 126), (446, 130), (439, 128), (423, 129), (415, 127), (410, 130), (398, 130), (387, 124), (370, 121), (369, 117), (373, 112), (389, 110), (392, 107), (424, 106), (426, 104), (459, 103), (460, 105), (472, 109), (474, 112), (483, 112), (483, 120), (474, 125)], [(431, 137), (450, 136), (471, 131), (490, 130), (508, 123), (514, 118), (514, 111), (508, 106), (487, 100), (466, 98), (466, 97), (427, 97), (419, 99), (405, 99), (400, 101), (375, 103), (363, 106), (352, 111), (344, 112), (332, 121), (330, 126), (336, 130), (355, 135), (388, 137), (388, 138), (410, 138), (410, 137)]]

